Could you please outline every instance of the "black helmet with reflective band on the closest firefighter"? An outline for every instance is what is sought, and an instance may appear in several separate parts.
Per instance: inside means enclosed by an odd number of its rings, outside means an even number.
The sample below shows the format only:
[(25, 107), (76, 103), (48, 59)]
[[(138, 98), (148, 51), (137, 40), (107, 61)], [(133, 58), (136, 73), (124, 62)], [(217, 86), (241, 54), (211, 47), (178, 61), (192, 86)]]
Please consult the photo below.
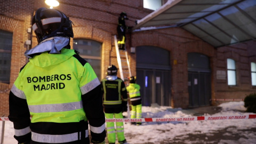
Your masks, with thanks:
[(33, 17), (32, 28), (38, 44), (54, 36), (74, 37), (71, 20), (56, 9), (39, 8)]

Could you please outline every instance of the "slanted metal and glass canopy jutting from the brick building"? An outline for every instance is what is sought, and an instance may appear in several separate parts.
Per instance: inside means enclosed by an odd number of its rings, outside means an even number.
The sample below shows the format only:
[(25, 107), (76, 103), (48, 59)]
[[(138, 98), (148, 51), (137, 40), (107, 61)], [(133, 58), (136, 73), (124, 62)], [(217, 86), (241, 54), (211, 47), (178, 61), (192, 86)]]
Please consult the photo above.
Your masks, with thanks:
[(133, 31), (181, 27), (220, 47), (256, 39), (256, 0), (169, 0)]

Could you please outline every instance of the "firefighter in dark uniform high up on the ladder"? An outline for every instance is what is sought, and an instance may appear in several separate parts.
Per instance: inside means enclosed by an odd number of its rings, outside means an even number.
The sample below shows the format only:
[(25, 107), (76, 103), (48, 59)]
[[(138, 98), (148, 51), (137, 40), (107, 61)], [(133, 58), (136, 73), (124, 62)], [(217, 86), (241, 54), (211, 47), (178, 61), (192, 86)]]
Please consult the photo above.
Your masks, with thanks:
[(124, 45), (125, 45), (125, 33), (126, 33), (126, 25), (125, 25), (125, 20), (127, 20), (127, 14), (125, 12), (122, 12), (118, 18), (118, 26), (117, 26), (117, 34), (118, 34), (118, 47), (120, 50), (125, 50)]

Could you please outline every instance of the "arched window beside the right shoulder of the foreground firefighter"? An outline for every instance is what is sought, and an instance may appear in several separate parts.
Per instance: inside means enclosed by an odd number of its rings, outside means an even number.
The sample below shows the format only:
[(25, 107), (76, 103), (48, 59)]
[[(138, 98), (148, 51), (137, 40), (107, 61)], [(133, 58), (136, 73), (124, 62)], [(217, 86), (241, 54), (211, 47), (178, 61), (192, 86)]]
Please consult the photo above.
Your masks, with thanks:
[(90, 63), (99, 79), (101, 79), (101, 46), (102, 43), (91, 39), (74, 39), (73, 41), (73, 49)]

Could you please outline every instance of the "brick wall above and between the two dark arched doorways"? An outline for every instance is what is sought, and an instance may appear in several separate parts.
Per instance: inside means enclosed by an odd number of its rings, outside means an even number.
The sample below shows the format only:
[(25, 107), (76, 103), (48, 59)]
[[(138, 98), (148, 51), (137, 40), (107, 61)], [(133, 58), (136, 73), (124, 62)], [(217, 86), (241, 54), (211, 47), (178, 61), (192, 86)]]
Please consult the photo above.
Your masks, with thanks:
[[(170, 51), (172, 107), (187, 108), (189, 105), (187, 54), (198, 52), (213, 59), (214, 48), (180, 28), (140, 31), (132, 35), (131, 41), (132, 45), (158, 46)], [(131, 57), (134, 57), (134, 54), (131, 54)], [(174, 64), (174, 60), (177, 63)]]

